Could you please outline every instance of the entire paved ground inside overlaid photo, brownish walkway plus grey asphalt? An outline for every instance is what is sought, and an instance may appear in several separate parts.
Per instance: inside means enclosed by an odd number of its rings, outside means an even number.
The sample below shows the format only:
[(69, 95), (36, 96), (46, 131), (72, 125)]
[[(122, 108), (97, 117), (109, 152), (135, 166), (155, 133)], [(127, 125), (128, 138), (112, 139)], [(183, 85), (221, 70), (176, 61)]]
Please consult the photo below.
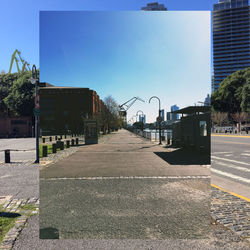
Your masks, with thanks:
[(175, 157), (173, 149), (121, 130), (42, 167), (42, 237), (206, 238), (210, 170), (170, 164)]

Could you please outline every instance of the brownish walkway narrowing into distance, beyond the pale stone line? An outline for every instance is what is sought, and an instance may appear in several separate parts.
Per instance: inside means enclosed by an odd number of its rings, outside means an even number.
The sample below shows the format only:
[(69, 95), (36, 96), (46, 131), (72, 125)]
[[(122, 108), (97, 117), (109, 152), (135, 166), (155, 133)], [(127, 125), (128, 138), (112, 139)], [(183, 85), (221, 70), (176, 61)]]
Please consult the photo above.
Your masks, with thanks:
[(210, 175), (207, 166), (170, 164), (172, 155), (173, 149), (123, 129), (103, 143), (83, 146), (70, 157), (43, 168), (40, 178)]

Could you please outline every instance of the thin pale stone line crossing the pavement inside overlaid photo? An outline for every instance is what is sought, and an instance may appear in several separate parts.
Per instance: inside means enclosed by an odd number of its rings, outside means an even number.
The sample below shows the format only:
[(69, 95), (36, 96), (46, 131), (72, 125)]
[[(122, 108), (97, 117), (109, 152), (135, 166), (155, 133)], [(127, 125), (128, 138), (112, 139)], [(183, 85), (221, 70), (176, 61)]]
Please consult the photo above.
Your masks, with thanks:
[(61, 178), (40, 178), (40, 180), (117, 180), (117, 179), (210, 179), (207, 175), (197, 176), (96, 176), (96, 177), (61, 177)]

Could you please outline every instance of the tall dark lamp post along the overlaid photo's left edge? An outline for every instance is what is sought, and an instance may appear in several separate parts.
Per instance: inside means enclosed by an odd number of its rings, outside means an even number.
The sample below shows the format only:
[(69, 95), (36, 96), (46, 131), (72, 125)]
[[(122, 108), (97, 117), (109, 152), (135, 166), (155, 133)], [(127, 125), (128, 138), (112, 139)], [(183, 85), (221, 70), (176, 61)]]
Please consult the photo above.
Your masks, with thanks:
[(38, 79), (37, 79), (37, 71), (36, 66), (32, 66), (32, 77), (30, 79), (32, 84), (35, 84), (35, 108), (34, 108), (34, 115), (35, 115), (35, 135), (36, 135), (36, 161), (35, 163), (39, 163), (39, 94), (38, 94)]

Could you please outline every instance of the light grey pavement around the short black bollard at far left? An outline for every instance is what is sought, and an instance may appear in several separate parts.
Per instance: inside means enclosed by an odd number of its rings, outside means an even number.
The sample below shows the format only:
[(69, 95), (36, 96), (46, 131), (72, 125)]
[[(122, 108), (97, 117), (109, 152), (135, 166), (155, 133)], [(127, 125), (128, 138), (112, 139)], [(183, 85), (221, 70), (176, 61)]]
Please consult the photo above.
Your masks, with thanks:
[[(36, 159), (35, 138), (0, 139), (0, 163), (4, 162), (5, 149), (10, 152), (11, 162), (32, 162)], [(18, 151), (16, 151), (18, 150)]]

